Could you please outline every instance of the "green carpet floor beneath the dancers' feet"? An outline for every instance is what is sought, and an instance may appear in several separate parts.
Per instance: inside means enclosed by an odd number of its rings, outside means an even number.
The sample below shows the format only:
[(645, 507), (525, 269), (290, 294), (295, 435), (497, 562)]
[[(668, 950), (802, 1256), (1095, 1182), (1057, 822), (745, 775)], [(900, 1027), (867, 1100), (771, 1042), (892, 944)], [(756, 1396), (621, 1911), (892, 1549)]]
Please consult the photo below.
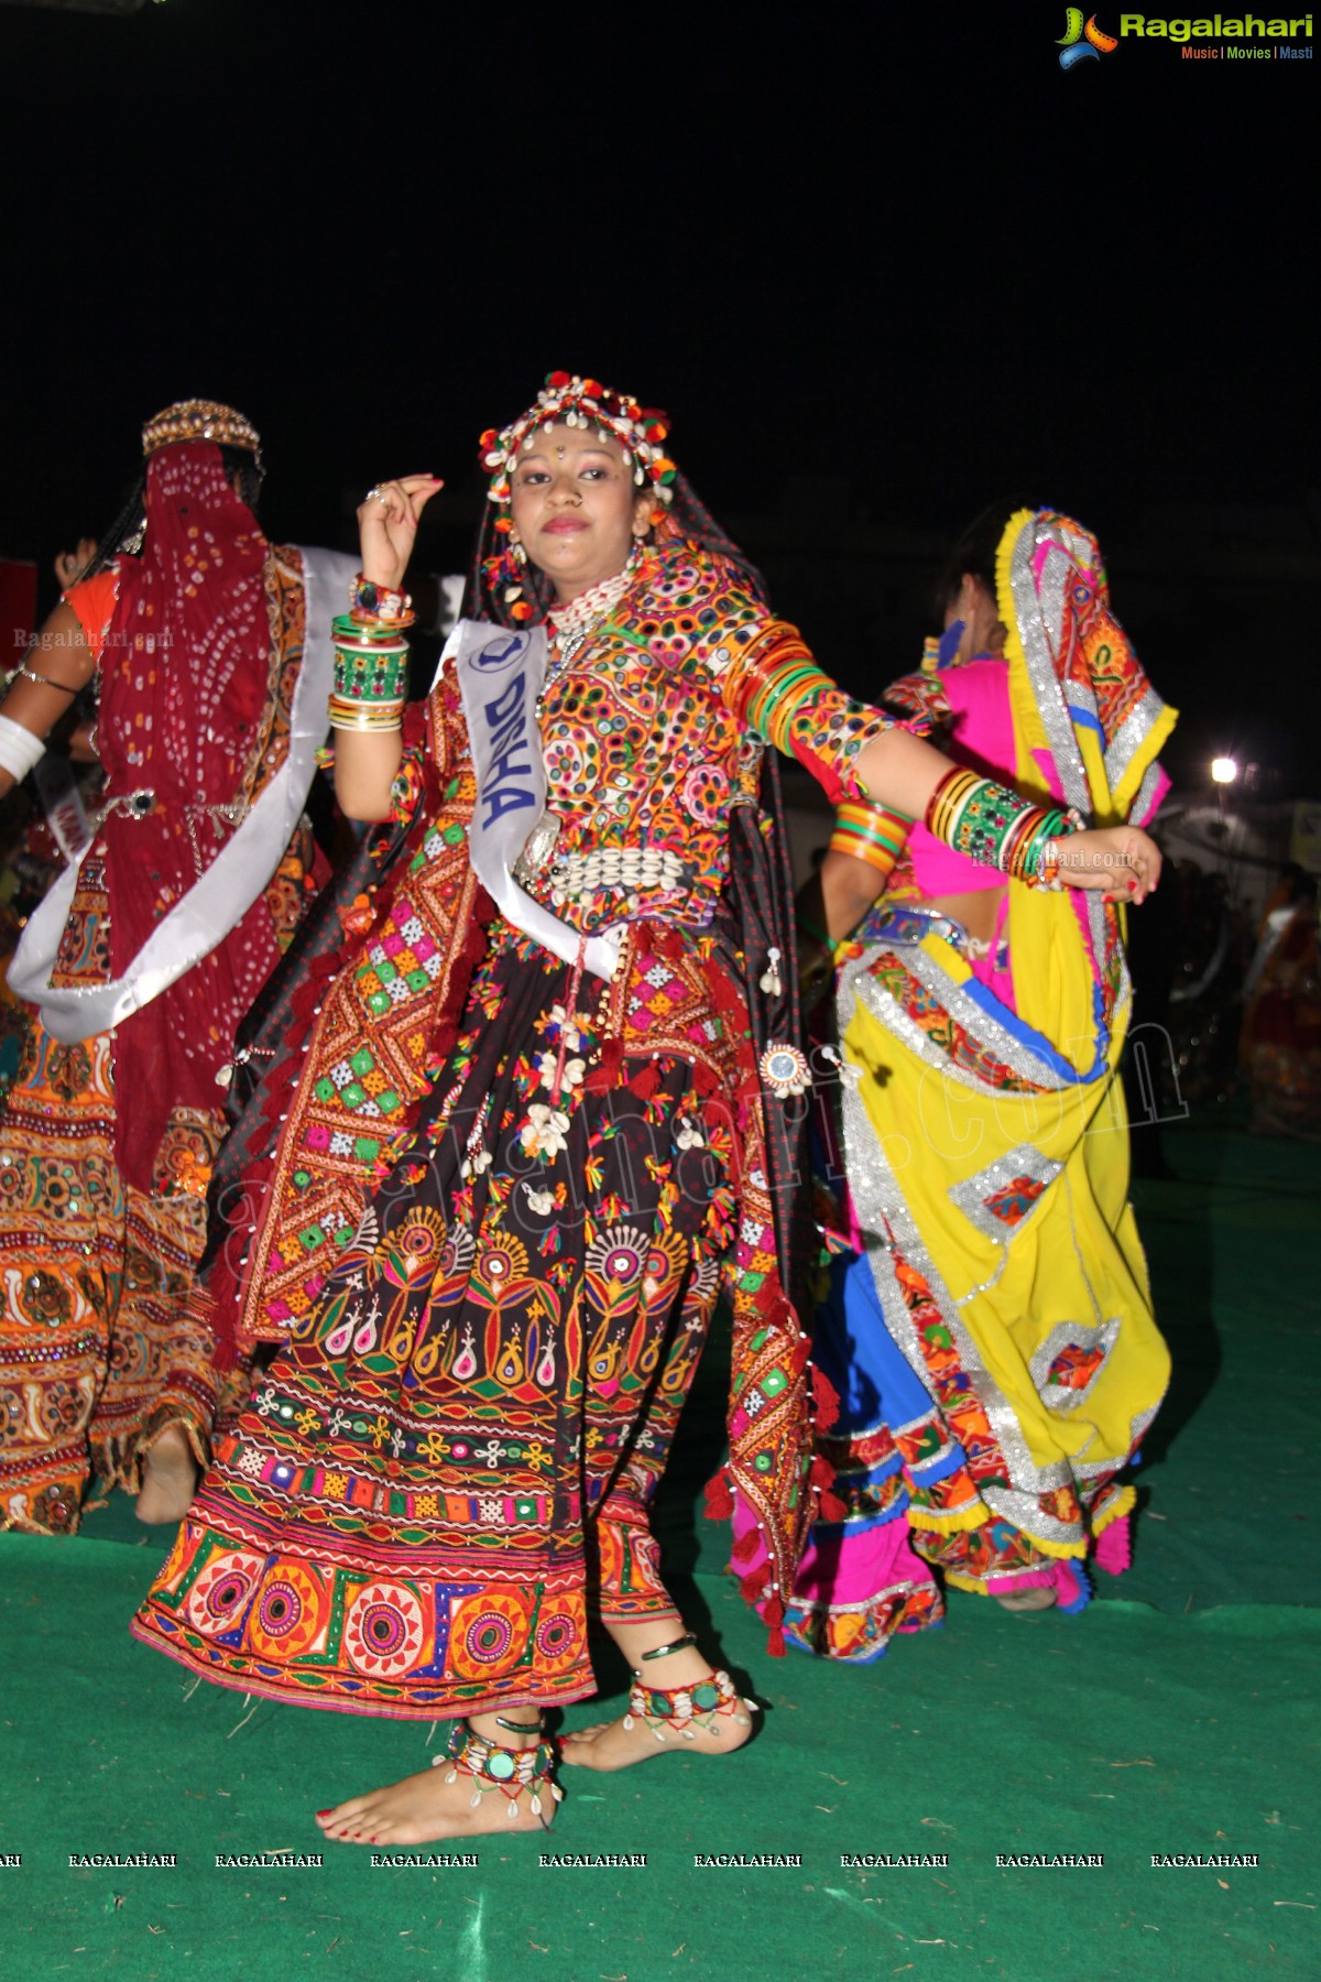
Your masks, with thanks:
[[(1137, 1187), (1176, 1383), (1141, 1469), (1133, 1572), (1079, 1617), (951, 1599), (943, 1631), (865, 1669), (770, 1661), (695, 1520), (719, 1441), (719, 1358), (663, 1532), (764, 1732), (739, 1758), (574, 1776), (557, 1853), (477, 1843), (475, 1869), (222, 1869), (317, 1851), (307, 1812), (424, 1766), (428, 1730), (192, 1687), (125, 1619), (168, 1544), (123, 1502), (73, 1542), (0, 1538), (10, 1907), (0, 1976), (125, 1982), (660, 1982), (996, 1976), (1004, 1982), (1321, 1974), (1315, 1689), (1321, 1643), (1307, 1425), (1321, 1368), (1321, 1154), (1224, 1126), (1165, 1136)], [(604, 1669), (608, 1691), (618, 1669)], [(572, 1722), (594, 1718), (580, 1707)], [(1313, 1708), (1315, 1712), (1315, 1708)], [(174, 1869), (69, 1867), (176, 1853)], [(695, 1853), (800, 1865), (697, 1867)], [(864, 1869), (850, 1853), (945, 1855)], [(1101, 1855), (1000, 1867), (996, 1855)], [(1153, 1855), (1256, 1867), (1153, 1867)]]

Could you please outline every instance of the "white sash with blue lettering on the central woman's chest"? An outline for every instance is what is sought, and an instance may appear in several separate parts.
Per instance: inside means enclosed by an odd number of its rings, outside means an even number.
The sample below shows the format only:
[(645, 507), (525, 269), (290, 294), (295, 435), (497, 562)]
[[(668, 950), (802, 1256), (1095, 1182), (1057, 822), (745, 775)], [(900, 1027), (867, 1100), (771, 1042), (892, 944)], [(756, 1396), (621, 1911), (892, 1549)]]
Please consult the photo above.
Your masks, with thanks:
[(545, 626), (505, 632), (481, 620), (459, 620), (440, 658), (454, 660), (467, 737), (477, 773), (477, 803), (467, 828), (471, 870), (505, 922), (523, 930), (564, 963), (614, 977), (620, 932), (588, 936), (560, 922), (513, 878), (513, 864), (547, 809), (547, 767), (541, 751), (537, 696), (547, 672)]

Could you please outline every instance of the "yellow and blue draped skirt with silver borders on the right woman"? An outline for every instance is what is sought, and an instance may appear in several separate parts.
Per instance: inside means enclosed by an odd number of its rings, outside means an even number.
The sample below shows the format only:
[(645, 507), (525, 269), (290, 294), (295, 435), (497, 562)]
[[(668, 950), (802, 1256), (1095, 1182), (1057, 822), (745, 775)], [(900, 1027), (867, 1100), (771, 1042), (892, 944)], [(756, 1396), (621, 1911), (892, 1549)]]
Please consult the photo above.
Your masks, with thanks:
[[(1046, 920), (1067, 936), (1073, 912), (1028, 896), (1014, 914), (1042, 924), (1016, 1007), (1071, 991), (1054, 1031), (1077, 1050), (1093, 985), (1067, 975)], [(937, 1621), (937, 1580), (1048, 1588), (1075, 1611), (1087, 1562), (1129, 1562), (1121, 1475), (1169, 1354), (1127, 1205), (1123, 1031), (1089, 1080), (1067, 1078), (1050, 1039), (982, 987), (941, 936), (877, 941), (842, 979), (862, 1082), (840, 1092), (832, 1171), (862, 1251), (836, 1265), (818, 1348), (844, 1395), (824, 1441), (842, 1506), (812, 1530), (788, 1625), (830, 1657), (875, 1657), (893, 1629)]]

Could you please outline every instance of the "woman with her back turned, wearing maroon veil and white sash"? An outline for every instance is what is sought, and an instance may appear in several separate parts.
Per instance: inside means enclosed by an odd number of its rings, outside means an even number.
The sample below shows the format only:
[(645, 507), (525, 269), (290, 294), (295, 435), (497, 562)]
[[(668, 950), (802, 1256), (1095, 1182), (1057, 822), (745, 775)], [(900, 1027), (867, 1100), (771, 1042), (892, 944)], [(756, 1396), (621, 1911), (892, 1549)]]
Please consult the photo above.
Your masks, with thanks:
[[(0, 1110), (0, 1526), (77, 1528), (93, 1473), (178, 1520), (234, 1346), (184, 1314), (234, 1033), (305, 906), (303, 803), (353, 563), (261, 535), (257, 434), (180, 400), (14, 672), (0, 795), (95, 680), (105, 799), (32, 916)], [(93, 547), (95, 549), (95, 547)]]

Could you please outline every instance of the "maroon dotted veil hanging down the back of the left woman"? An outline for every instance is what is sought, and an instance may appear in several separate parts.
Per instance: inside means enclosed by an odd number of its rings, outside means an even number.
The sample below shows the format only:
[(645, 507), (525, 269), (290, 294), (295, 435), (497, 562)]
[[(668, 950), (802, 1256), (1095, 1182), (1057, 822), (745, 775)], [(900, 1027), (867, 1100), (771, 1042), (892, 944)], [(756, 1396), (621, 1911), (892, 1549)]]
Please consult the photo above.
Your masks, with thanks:
[[(236, 821), (220, 807), (248, 795), (271, 664), (265, 557), (214, 442), (152, 456), (143, 557), (119, 567), (101, 654), (111, 977), (230, 840)], [(210, 955), (119, 1025), (117, 1157), (139, 1189), (152, 1185), (170, 1110), (222, 1104), (216, 1074), (277, 957), (257, 898)]]

